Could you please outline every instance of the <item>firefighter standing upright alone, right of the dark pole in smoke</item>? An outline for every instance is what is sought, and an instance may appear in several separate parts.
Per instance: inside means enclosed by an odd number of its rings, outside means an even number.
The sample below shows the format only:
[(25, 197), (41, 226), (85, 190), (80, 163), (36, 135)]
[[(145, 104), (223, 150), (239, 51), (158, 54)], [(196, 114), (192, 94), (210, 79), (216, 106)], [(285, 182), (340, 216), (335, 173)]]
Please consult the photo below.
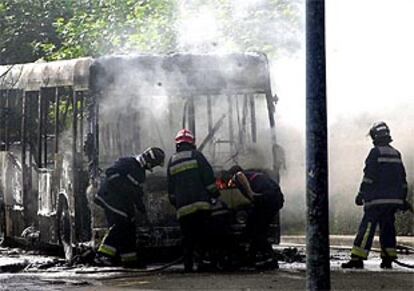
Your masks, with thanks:
[(408, 202), (407, 181), (401, 154), (390, 145), (392, 138), (385, 122), (377, 122), (369, 135), (374, 147), (365, 160), (364, 176), (355, 204), (364, 206), (364, 215), (351, 250), (351, 259), (342, 268), (364, 267), (379, 224), (381, 268), (392, 268), (397, 258), (395, 238), (395, 212), (405, 210)]

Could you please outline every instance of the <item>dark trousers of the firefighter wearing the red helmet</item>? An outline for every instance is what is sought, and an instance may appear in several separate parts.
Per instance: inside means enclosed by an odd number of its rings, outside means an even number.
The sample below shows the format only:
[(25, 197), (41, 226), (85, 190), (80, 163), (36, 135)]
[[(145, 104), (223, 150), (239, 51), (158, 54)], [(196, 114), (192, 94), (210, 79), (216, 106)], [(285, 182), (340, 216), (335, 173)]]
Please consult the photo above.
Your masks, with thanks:
[(193, 268), (195, 251), (202, 252), (208, 245), (206, 230), (209, 216), (209, 211), (197, 211), (179, 218), (186, 271), (191, 271)]

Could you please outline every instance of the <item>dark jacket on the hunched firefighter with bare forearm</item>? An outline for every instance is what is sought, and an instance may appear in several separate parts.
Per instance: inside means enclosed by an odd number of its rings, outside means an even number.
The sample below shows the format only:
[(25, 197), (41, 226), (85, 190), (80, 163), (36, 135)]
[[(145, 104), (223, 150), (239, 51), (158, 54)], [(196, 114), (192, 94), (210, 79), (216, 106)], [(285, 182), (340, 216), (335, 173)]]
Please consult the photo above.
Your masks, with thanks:
[(274, 211), (283, 207), (285, 202), (283, 193), (279, 184), (270, 178), (269, 175), (258, 171), (243, 171), (243, 174), (249, 180), (253, 192), (257, 193), (253, 196), (255, 203), (260, 202)]

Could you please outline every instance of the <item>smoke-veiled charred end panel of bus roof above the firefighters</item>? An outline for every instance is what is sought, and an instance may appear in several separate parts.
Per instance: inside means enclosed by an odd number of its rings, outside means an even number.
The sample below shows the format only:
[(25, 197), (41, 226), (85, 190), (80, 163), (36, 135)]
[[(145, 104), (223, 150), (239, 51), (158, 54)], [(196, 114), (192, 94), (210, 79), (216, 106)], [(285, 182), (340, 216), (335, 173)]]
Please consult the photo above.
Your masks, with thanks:
[(148, 95), (270, 91), (267, 59), (258, 53), (108, 56), (93, 66), (100, 89), (135, 83)]

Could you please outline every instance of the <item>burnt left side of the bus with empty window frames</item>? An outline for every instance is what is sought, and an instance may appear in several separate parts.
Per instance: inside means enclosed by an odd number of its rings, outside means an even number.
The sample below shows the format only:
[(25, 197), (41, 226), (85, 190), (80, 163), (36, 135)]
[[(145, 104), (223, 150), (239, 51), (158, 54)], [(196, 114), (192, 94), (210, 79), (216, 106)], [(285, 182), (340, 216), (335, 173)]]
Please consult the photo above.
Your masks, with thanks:
[(83, 151), (92, 108), (84, 76), (90, 62), (0, 69), (1, 232), (6, 241), (42, 246), (90, 238)]

